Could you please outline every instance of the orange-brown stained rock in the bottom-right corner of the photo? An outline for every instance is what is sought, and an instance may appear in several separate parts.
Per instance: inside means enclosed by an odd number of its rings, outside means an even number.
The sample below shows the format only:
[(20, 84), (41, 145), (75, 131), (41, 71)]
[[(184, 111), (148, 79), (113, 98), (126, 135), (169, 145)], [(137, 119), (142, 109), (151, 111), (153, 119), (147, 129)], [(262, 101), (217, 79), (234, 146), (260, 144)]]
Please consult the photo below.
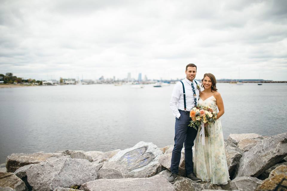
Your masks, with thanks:
[(262, 181), (255, 191), (287, 190), (287, 166), (281, 165), (271, 171), (269, 177)]

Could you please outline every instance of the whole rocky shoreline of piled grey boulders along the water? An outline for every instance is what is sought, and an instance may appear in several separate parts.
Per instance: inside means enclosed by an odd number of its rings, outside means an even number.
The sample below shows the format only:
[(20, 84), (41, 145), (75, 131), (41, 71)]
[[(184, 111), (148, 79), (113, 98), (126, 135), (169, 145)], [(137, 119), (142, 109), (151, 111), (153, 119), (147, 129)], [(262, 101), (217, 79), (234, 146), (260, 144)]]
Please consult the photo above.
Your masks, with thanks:
[[(170, 175), (173, 146), (158, 148), (139, 142), (125, 150), (13, 153), (0, 165), (0, 190), (5, 191), (267, 191), (287, 188), (287, 133), (263, 137), (230, 134), (225, 153), (231, 181), (226, 185), (185, 178), (184, 149), (179, 176)], [(281, 185), (281, 186), (280, 186)]]

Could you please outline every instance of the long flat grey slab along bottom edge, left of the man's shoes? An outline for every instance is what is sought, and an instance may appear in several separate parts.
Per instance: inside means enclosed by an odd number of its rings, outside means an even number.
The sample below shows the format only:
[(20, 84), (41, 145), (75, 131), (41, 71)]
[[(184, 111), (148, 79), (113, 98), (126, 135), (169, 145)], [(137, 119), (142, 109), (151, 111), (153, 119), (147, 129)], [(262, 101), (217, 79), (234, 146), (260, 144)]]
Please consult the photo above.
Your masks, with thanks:
[(85, 191), (174, 191), (173, 185), (166, 178), (153, 176), (149, 178), (98, 179), (83, 184)]

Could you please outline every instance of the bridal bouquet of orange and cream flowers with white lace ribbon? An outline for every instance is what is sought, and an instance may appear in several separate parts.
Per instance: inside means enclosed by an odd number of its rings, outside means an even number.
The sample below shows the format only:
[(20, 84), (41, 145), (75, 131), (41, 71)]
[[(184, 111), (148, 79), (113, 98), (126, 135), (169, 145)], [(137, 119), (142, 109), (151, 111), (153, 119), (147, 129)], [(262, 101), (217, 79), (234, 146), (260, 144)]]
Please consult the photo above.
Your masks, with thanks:
[[(205, 137), (209, 137), (209, 133), (204, 127), (204, 124), (215, 123), (216, 113), (207, 106), (193, 107), (190, 111), (190, 124), (188, 126), (193, 127), (197, 130), (197, 127), (201, 127), (201, 134)], [(204, 129), (204, 130), (203, 130)]]

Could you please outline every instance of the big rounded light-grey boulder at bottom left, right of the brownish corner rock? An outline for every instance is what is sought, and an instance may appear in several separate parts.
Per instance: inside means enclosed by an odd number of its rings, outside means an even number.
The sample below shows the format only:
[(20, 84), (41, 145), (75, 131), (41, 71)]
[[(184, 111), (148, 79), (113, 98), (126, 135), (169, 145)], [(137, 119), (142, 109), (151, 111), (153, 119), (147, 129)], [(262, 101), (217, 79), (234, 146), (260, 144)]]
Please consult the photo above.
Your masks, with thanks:
[(54, 190), (56, 187), (72, 187), (97, 179), (96, 167), (84, 159), (63, 158), (42, 162), (30, 167), (28, 183), (36, 191)]

